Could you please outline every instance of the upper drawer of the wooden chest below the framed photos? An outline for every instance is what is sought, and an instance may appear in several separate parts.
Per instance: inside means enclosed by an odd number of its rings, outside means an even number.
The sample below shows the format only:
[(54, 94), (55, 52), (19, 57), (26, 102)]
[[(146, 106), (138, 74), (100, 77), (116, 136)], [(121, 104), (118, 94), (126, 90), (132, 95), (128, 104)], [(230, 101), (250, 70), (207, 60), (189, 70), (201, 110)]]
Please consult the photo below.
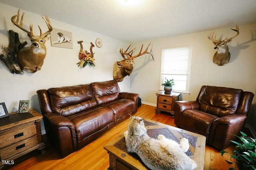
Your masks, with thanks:
[(0, 148), (7, 147), (36, 135), (36, 125), (0, 136)]

